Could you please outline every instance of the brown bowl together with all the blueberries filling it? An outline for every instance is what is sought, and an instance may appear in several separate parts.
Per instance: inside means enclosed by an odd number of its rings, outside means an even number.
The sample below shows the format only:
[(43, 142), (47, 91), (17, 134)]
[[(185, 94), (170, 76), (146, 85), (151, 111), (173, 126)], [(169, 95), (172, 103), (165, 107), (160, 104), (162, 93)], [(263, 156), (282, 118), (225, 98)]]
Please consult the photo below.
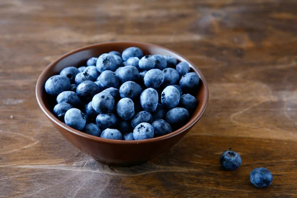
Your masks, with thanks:
[(190, 131), (206, 109), (208, 88), (199, 69), (177, 52), (109, 42), (50, 63), (36, 97), (75, 147), (103, 163), (131, 166), (170, 149)]

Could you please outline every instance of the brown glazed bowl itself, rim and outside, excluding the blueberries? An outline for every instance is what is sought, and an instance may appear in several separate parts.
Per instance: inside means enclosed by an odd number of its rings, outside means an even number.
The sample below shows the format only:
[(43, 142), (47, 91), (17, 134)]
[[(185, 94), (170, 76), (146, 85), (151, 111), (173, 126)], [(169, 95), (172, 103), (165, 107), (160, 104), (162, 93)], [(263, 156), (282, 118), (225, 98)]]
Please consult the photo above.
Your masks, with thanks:
[[(142, 49), (144, 54), (171, 55), (177, 58), (178, 61), (186, 61), (189, 63), (192, 72), (196, 72), (200, 77), (200, 86), (196, 95), (198, 106), (190, 121), (185, 126), (170, 134), (148, 140), (109, 140), (75, 130), (59, 121), (51, 113), (54, 104), (45, 92), (45, 83), (49, 77), (58, 74), (63, 68), (68, 66), (83, 66), (90, 57), (98, 57), (100, 54), (107, 53), (112, 50), (121, 52), (124, 49), (133, 46)], [(131, 166), (144, 163), (161, 152), (171, 148), (190, 131), (190, 129), (194, 126), (194, 124), (197, 123), (206, 109), (208, 102), (208, 88), (200, 70), (195, 67), (195, 65), (190, 60), (177, 52), (147, 43), (108, 42), (75, 49), (50, 63), (49, 66), (47, 66), (42, 72), (37, 81), (36, 97), (40, 108), (49, 118), (49, 121), (75, 147), (103, 163), (120, 166)]]

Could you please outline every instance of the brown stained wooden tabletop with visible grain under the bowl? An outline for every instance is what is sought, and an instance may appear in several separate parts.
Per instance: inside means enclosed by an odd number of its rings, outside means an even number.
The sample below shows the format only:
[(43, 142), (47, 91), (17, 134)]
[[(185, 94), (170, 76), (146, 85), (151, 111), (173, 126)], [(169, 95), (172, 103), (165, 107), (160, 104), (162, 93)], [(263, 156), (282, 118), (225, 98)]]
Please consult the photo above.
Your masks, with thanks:
[[(1, 0), (1, 198), (296, 198), (297, 1)], [(43, 69), (72, 49), (143, 41), (193, 61), (210, 96), (175, 147), (131, 168), (68, 143), (35, 99)], [(243, 160), (224, 171), (226, 149)], [(273, 184), (256, 189), (253, 168)]]

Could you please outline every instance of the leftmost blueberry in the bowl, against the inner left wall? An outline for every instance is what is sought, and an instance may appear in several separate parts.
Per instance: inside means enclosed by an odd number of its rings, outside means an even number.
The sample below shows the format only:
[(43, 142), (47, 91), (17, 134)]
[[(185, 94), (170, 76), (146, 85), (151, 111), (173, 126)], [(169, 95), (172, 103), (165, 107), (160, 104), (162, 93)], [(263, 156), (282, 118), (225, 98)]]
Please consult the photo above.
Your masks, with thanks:
[(62, 75), (52, 76), (47, 80), (45, 89), (47, 94), (56, 97), (60, 93), (70, 89), (70, 80)]

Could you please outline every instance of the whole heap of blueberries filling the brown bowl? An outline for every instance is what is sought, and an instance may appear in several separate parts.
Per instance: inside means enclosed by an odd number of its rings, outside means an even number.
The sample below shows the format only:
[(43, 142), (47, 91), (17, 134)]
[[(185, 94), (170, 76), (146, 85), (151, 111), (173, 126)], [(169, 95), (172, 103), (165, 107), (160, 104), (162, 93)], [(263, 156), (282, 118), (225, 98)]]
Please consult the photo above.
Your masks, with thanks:
[(92, 57), (86, 67), (66, 67), (45, 90), (56, 99), (54, 115), (68, 126), (101, 138), (145, 140), (189, 121), (198, 85), (187, 62), (131, 47)]

